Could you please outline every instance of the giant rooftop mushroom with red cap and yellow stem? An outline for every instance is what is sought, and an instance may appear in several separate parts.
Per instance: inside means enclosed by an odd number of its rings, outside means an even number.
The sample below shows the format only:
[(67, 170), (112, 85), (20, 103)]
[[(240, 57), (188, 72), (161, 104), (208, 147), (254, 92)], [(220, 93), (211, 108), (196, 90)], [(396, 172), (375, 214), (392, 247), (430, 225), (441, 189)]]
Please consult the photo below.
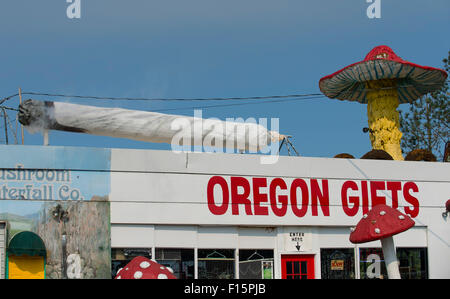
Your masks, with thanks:
[(372, 148), (403, 160), (398, 105), (440, 89), (446, 78), (444, 70), (405, 61), (378, 46), (363, 61), (320, 79), (319, 87), (329, 98), (367, 104)]

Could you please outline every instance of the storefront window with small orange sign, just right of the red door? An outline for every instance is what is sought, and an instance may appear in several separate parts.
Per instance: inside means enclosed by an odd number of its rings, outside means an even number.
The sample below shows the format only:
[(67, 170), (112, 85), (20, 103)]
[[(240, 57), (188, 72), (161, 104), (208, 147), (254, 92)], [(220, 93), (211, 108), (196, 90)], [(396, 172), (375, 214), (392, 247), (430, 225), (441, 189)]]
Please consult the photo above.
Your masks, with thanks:
[(320, 250), (323, 279), (354, 279), (355, 256), (351, 248), (326, 248)]

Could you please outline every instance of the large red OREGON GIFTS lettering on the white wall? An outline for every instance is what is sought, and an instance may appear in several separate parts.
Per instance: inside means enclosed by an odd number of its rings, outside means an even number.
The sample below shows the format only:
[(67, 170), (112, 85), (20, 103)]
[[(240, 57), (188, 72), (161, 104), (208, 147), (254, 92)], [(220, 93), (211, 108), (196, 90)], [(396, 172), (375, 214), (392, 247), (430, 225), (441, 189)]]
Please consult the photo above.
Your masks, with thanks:
[[(208, 209), (214, 215), (275, 215), (284, 217), (288, 211), (298, 218), (330, 216), (330, 190), (327, 179), (293, 179), (290, 184), (282, 178), (245, 178), (213, 176), (208, 181)], [(360, 211), (367, 213), (378, 204), (402, 204), (412, 218), (419, 214), (418, 186), (414, 182), (344, 181), (340, 189), (342, 210), (349, 217)], [(319, 212), (320, 207), (320, 212)]]

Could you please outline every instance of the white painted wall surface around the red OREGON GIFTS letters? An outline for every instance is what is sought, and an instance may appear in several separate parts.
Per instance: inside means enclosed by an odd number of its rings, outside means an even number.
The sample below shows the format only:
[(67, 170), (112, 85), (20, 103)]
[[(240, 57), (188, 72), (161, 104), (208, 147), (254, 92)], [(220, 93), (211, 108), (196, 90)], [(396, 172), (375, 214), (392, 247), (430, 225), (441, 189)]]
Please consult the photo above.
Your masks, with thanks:
[[(114, 228), (116, 224), (135, 224), (138, 227), (162, 225), (161, 231), (158, 228), (153, 232), (153, 243), (148, 244), (160, 246), (158, 244), (161, 242), (161, 246), (240, 248), (241, 244), (251, 247), (252, 242), (255, 245), (275, 243), (276, 253), (281, 254), (283, 227), (306, 226), (315, 231), (313, 253), (317, 254), (320, 247), (332, 244), (333, 247), (352, 247), (354, 245), (348, 241), (349, 228), (356, 225), (363, 212), (359, 209), (354, 216), (344, 213), (341, 198), (343, 182), (413, 182), (419, 189), (411, 193), (419, 202), (418, 215), (413, 218), (416, 226), (396, 236), (396, 246), (428, 247), (430, 278), (450, 278), (450, 220), (442, 217), (450, 194), (449, 163), (280, 157), (274, 165), (262, 165), (260, 156), (256, 155), (175, 154), (123, 149), (113, 149), (111, 155), (113, 244), (126, 244), (126, 238), (132, 238), (125, 236), (125, 227)], [(240, 207), (239, 215), (232, 215), (231, 208), (224, 215), (214, 215), (208, 209), (206, 191), (209, 179), (216, 175), (222, 176), (228, 186), (231, 176), (242, 176), (250, 182), (255, 177), (267, 178), (268, 182), (281, 177), (287, 183), (295, 178), (302, 178), (308, 183), (311, 179), (318, 179), (319, 182), (327, 180), (330, 216), (324, 216), (320, 207), (318, 215), (313, 216), (310, 206), (304, 217), (297, 217), (292, 211), (284, 217), (273, 213), (248, 216), (244, 206)], [(260, 190), (268, 193), (265, 188)], [(358, 195), (358, 192), (348, 195)], [(253, 195), (254, 190), (249, 197)], [(388, 191), (378, 191), (377, 196), (386, 197), (387, 204), (392, 204)], [(404, 207), (411, 207), (411, 204), (400, 192), (399, 210), (404, 212)], [(239, 228), (241, 226), (247, 227), (247, 232), (252, 229), (248, 227), (253, 226), (258, 232), (255, 231), (253, 237), (252, 233), (246, 235), (246, 229)], [(262, 236), (264, 227), (275, 227), (276, 237)], [(166, 235), (180, 235), (180, 238), (174, 241), (174, 237), (166, 238)], [(124, 241), (116, 240), (119, 236), (123, 236)], [(139, 244), (138, 240), (132, 239), (129, 243)], [(379, 247), (373, 243), (362, 246)], [(320, 269), (320, 264), (318, 266), (316, 269)]]

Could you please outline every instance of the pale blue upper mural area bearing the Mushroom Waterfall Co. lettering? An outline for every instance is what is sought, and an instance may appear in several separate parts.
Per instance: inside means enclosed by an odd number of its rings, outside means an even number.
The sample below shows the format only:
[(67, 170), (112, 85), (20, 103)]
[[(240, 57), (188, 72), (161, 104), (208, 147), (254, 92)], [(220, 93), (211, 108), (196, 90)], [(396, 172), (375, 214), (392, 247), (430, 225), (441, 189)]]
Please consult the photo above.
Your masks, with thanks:
[(90, 200), (109, 194), (105, 172), (109, 171), (109, 156), (105, 150), (32, 147), (31, 152), (30, 146), (3, 148), (8, 151), (2, 155), (7, 159), (1, 159), (2, 200)]

